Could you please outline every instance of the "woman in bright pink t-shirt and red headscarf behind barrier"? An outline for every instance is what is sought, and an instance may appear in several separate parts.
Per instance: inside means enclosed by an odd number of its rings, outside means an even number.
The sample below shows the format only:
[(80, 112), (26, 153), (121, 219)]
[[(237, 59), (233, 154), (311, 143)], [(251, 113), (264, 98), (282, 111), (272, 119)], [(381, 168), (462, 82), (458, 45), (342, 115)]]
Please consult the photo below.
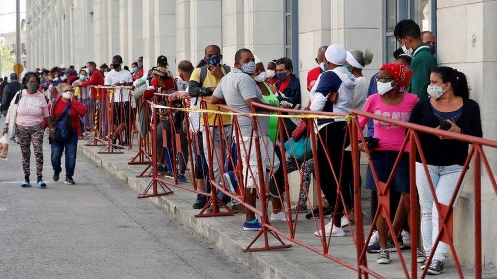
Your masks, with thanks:
[[(371, 95), (364, 105), (364, 111), (392, 118), (400, 121), (409, 121), (409, 116), (412, 108), (419, 101), (414, 94), (403, 92), (401, 87), (409, 85), (409, 79), (412, 72), (409, 67), (400, 64), (383, 65), (377, 77), (378, 93)], [(359, 123), (362, 128), (368, 122), (367, 117), (359, 117)], [(401, 150), (402, 143), (405, 138), (405, 129), (391, 123), (373, 120), (374, 137), (378, 139), (378, 145), (370, 149), (371, 162), (373, 163), (379, 181), (386, 183), (390, 173), (393, 170), (395, 161), (399, 152), (402, 152), (402, 157), (399, 166), (397, 167), (389, 191), (397, 191), (401, 193), (401, 198), (398, 208), (390, 208), (396, 211), (394, 219), (394, 230), (396, 235), (400, 233), (406, 221), (407, 213), (409, 212), (409, 156), (408, 145)], [(362, 149), (364, 147), (361, 145)], [(368, 165), (366, 172), (366, 189), (376, 191), (376, 183), (373, 179), (371, 168)], [(379, 243), (370, 243), (368, 252), (379, 252), (379, 264), (390, 263), (388, 248), (392, 247), (392, 240), (388, 239), (388, 225), (386, 219), (379, 216), (376, 222), (378, 229)], [(416, 228), (417, 226), (411, 226)], [(390, 242), (390, 243), (388, 243)], [(373, 246), (378, 246), (374, 249)], [(378, 251), (373, 251), (378, 250)]]

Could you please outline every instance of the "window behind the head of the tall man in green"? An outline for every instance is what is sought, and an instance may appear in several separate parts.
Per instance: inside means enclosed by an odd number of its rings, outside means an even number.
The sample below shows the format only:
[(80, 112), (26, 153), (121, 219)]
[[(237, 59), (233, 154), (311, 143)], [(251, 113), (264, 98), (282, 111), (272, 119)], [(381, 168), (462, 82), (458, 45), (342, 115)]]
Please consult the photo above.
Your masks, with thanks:
[(436, 0), (383, 0), (383, 62), (393, 62), (400, 47), (394, 37), (395, 24), (410, 18), (420, 25), (421, 32), (436, 33)]

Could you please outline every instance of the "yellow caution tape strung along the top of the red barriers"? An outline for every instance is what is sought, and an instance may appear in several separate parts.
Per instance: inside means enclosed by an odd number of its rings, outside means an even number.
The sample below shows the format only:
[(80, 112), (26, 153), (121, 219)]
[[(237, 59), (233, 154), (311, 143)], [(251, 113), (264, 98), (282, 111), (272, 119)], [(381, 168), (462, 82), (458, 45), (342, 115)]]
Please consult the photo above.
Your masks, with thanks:
[(300, 114), (266, 114), (266, 113), (238, 113), (238, 112), (229, 112), (229, 111), (217, 111), (217, 110), (211, 110), (211, 109), (201, 109), (201, 108), (173, 108), (169, 106), (162, 106), (162, 105), (157, 105), (152, 103), (151, 101), (148, 101), (149, 104), (153, 108), (159, 108), (159, 109), (174, 109), (178, 111), (185, 111), (185, 112), (199, 112), (199, 113), (215, 113), (215, 114), (221, 114), (221, 115), (243, 115), (247, 117), (252, 117), (252, 116), (262, 116), (262, 117), (278, 117), (278, 118), (319, 118), (319, 119), (342, 119), (345, 118), (347, 121), (347, 124), (350, 123), (352, 118), (355, 118), (355, 115), (352, 114), (347, 114), (343, 116), (334, 116), (334, 115), (321, 115), (321, 114), (307, 114), (307, 113), (300, 113)]

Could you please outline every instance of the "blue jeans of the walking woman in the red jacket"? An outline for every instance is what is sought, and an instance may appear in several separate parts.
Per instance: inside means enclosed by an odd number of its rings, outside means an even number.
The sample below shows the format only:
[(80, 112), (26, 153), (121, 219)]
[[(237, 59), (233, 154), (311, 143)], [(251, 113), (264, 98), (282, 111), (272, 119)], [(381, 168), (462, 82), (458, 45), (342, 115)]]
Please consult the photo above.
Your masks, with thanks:
[(62, 171), (61, 158), (62, 152), (64, 152), (66, 156), (66, 178), (72, 178), (76, 167), (77, 138), (77, 132), (72, 131), (71, 138), (67, 141), (53, 140), (51, 144), (52, 154), (50, 156), (53, 172), (60, 173)]

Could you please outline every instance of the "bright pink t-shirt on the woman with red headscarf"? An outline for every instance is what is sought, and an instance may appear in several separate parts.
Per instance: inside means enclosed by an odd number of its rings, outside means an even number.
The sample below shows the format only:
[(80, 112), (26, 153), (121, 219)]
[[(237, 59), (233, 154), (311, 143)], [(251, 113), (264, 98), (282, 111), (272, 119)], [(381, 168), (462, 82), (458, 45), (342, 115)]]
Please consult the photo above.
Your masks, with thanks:
[[(379, 94), (373, 94), (368, 97), (364, 105), (364, 111), (374, 113), (376, 115), (392, 118), (400, 121), (409, 121), (412, 108), (418, 103), (418, 96), (405, 92), (404, 99), (398, 105), (388, 105), (381, 100)], [(359, 124), (363, 129), (368, 118), (359, 117)], [(374, 123), (374, 138), (378, 138), (378, 146), (373, 150), (394, 150), (399, 151), (405, 138), (405, 128), (378, 121), (373, 119)], [(409, 151), (409, 145), (404, 148), (405, 152)]]

